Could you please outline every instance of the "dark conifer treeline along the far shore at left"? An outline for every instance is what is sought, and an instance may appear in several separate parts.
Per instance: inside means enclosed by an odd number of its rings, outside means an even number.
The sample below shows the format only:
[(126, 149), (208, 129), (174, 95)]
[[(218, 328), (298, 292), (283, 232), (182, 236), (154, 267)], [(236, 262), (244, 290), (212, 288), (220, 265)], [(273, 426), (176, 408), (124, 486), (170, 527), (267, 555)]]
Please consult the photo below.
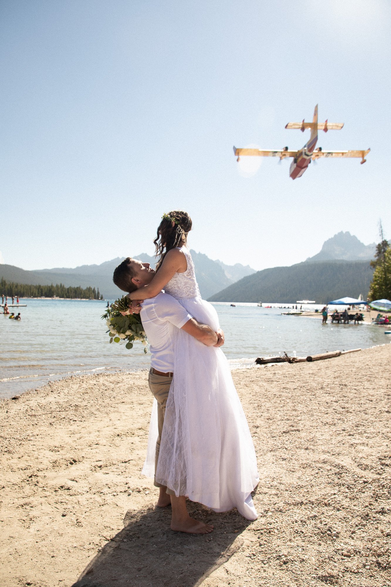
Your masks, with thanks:
[(5, 296), (19, 296), (19, 298), (83, 298), (83, 299), (103, 299), (99, 288), (81, 288), (69, 287), (66, 288), (63, 284), (56, 285), (27, 285), (16, 284), (13, 281), (5, 281), (0, 279), (0, 295)]

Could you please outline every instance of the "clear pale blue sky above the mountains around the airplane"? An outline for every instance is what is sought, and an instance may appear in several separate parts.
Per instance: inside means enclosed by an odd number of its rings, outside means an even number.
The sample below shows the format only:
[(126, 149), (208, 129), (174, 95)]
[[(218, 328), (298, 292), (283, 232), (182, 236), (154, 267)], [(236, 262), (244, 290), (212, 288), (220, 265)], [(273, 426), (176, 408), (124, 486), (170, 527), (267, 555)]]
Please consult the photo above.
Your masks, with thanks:
[[(190, 246), (255, 269), (350, 231), (391, 237), (387, 0), (0, 1), (0, 251), (25, 269), (153, 252), (163, 212)], [(256, 173), (232, 146), (299, 148), (289, 121), (343, 122), (323, 149)], [(252, 160), (254, 163), (254, 160)], [(250, 161), (247, 161), (250, 164)], [(0, 254), (0, 255), (1, 255)]]

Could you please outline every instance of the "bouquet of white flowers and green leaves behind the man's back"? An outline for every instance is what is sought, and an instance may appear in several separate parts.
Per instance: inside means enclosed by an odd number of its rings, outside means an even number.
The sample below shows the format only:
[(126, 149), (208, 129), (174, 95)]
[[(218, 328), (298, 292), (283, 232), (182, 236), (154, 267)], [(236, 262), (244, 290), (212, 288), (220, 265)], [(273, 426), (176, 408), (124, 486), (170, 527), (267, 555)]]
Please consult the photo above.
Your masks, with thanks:
[(126, 348), (132, 349), (134, 340), (141, 340), (144, 345), (144, 353), (147, 352), (147, 335), (144, 332), (143, 323), (139, 314), (129, 314), (123, 316), (121, 312), (129, 310), (129, 299), (126, 296), (116, 299), (110, 308), (102, 315), (102, 320), (106, 320), (109, 330), (110, 343), (126, 342)]

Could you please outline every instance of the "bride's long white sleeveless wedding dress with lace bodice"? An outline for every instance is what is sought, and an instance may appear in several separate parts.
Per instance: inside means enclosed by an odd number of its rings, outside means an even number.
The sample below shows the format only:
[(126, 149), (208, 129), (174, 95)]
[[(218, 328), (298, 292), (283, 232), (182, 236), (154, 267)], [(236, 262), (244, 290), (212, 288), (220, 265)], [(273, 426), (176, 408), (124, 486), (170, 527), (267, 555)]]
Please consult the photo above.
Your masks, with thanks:
[[(164, 288), (198, 322), (220, 328), (217, 312), (201, 299), (193, 259)], [(156, 402), (156, 400), (155, 400)], [(143, 473), (153, 476), (157, 404), (152, 411)], [(174, 377), (168, 394), (156, 481), (176, 495), (217, 512), (237, 508), (256, 519), (251, 491), (258, 484), (254, 444), (230, 368), (221, 348), (208, 347), (176, 329)]]

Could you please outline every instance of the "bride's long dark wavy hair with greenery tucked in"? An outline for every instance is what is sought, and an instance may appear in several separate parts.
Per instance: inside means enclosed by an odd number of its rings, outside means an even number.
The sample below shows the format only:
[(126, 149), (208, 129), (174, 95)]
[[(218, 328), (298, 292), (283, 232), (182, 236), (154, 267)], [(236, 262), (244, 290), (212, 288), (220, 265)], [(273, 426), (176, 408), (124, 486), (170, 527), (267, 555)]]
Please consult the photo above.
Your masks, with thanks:
[[(174, 226), (173, 226), (174, 224)], [(167, 252), (181, 244), (187, 243), (187, 234), (191, 231), (191, 218), (183, 210), (172, 210), (163, 214), (153, 241), (156, 257), (159, 256), (156, 269), (159, 269)]]

